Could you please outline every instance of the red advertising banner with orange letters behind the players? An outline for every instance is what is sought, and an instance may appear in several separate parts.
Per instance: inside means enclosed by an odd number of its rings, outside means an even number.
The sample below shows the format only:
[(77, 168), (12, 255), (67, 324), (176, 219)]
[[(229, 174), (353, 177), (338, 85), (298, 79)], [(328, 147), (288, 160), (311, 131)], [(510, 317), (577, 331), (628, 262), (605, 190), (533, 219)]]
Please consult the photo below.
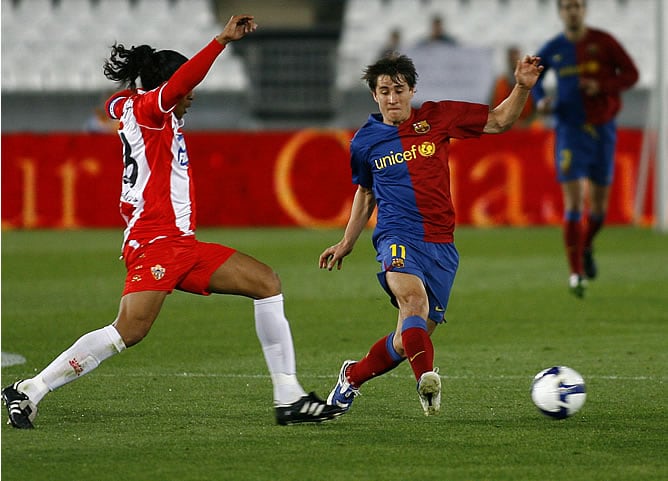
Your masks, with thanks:
[[(200, 226), (343, 226), (355, 192), (346, 130), (186, 133)], [(622, 130), (608, 220), (632, 221), (642, 133)], [(459, 224), (561, 221), (549, 130), (453, 141)], [(3, 134), (3, 228), (121, 226), (115, 135)], [(651, 182), (650, 182), (651, 185)], [(651, 198), (651, 188), (647, 199)], [(652, 217), (651, 203), (644, 212)]]

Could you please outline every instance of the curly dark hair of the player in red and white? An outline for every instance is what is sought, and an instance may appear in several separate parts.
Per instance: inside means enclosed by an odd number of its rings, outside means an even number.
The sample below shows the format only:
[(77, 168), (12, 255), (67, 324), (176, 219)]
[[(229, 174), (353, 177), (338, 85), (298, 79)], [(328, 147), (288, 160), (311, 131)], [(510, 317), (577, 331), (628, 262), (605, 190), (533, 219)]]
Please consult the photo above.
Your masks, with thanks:
[(111, 56), (104, 62), (104, 75), (131, 89), (137, 88), (139, 78), (141, 88), (152, 90), (169, 80), (187, 61), (185, 56), (173, 50), (156, 51), (148, 45), (128, 49), (115, 43), (111, 47)]

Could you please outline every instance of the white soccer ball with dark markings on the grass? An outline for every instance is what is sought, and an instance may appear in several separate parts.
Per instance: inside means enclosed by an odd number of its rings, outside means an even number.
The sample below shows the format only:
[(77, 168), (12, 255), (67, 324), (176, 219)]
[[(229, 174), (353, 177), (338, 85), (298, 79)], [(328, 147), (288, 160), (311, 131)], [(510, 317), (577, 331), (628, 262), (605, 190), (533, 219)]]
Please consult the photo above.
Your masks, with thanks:
[(580, 410), (587, 399), (582, 376), (566, 366), (554, 366), (536, 374), (531, 400), (546, 416), (565, 419)]

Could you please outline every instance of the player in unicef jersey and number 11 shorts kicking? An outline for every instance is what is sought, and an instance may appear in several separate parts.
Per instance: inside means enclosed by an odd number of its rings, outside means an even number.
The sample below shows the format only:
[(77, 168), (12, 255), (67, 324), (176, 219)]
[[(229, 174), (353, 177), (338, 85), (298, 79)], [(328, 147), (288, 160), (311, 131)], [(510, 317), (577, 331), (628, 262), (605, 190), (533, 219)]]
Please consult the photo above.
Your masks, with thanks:
[(369, 116), (351, 142), (357, 192), (343, 239), (320, 255), (320, 267), (341, 268), (374, 209), (378, 279), (399, 308), (396, 329), (360, 361), (345, 361), (328, 402), (348, 409), (365, 381), (408, 359), (426, 415), (441, 402), (430, 335), (444, 321), (459, 263), (453, 243), (455, 213), (450, 196), (450, 139), (500, 133), (517, 120), (542, 70), (538, 57), (517, 62), (516, 84), (496, 108), (456, 101), (411, 107), (417, 73), (408, 57), (390, 55), (363, 76), (379, 114)]

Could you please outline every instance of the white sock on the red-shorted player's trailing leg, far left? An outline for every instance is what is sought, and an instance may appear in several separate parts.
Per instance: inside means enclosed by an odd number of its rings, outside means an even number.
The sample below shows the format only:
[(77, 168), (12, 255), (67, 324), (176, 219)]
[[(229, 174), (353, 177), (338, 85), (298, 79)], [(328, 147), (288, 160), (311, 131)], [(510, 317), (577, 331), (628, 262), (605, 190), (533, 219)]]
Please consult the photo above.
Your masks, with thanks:
[(69, 349), (54, 359), (32, 379), (22, 381), (19, 390), (39, 403), (50, 391), (88, 374), (102, 361), (125, 349), (114, 326), (106, 326), (81, 336)]

